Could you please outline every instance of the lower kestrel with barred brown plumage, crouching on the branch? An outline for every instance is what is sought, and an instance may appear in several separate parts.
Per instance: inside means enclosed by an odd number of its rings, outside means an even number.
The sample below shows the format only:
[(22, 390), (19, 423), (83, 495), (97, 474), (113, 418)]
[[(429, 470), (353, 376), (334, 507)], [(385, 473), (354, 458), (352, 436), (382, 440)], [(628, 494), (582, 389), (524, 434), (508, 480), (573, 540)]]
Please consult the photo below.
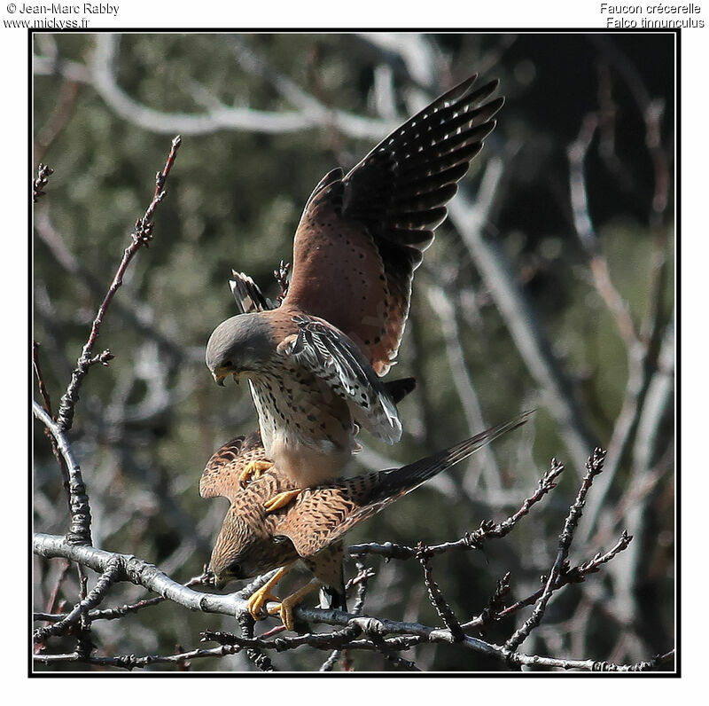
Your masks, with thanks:
[[(278, 601), (277, 608), (269, 612), (280, 612), (289, 630), (293, 627), (292, 609), (316, 588), (326, 587), (331, 608), (346, 609), (342, 536), (433, 475), (524, 424), (530, 414), (524, 412), (505, 424), (408, 466), (339, 478), (302, 490), (294, 502), (274, 513), (269, 513), (265, 501), (277, 493), (292, 490), (294, 482), (274, 466), (242, 487), (241, 470), (253, 460), (267, 459), (267, 453), (258, 432), (230, 441), (209, 460), (199, 482), (203, 498), (223, 496), (231, 503), (209, 562), (214, 584), (222, 587), (232, 579), (278, 569), (253, 593), (248, 605), (252, 616), (259, 619), (261, 608), (268, 600)], [(274, 586), (299, 560), (314, 578), (279, 601), (273, 595)]]

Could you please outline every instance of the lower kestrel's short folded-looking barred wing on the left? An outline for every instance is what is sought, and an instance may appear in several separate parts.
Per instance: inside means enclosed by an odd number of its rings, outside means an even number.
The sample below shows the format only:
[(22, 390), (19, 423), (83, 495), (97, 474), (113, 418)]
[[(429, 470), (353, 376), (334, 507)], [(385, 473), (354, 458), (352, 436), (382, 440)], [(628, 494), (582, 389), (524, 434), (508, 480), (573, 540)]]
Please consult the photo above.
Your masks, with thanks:
[(238, 476), (251, 461), (269, 460), (261, 444), (258, 431), (248, 436), (237, 436), (225, 443), (206, 463), (199, 479), (202, 498), (234, 497), (240, 486)]

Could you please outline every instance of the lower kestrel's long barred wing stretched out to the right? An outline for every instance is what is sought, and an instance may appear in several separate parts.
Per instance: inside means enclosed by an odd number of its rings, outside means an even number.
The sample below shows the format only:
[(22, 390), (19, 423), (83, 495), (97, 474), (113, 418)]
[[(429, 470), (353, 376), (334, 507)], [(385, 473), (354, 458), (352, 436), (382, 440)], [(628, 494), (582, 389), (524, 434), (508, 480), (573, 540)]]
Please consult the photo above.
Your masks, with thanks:
[(274, 534), (291, 539), (300, 556), (320, 552), (355, 524), (377, 514), (433, 475), (454, 466), (505, 432), (518, 428), (531, 414), (523, 412), (505, 424), (486, 429), (409, 466), (304, 490), (283, 521), (277, 523)]

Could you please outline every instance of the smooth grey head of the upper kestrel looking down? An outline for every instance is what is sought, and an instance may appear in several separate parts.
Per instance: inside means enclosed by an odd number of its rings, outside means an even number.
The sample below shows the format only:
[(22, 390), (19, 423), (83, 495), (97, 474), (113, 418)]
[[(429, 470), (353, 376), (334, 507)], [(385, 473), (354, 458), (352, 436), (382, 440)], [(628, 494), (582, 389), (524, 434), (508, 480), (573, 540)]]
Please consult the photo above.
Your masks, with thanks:
[(205, 362), (214, 380), (227, 375), (238, 381), (241, 373), (258, 373), (276, 349), (268, 319), (259, 313), (239, 314), (214, 329), (206, 344)]

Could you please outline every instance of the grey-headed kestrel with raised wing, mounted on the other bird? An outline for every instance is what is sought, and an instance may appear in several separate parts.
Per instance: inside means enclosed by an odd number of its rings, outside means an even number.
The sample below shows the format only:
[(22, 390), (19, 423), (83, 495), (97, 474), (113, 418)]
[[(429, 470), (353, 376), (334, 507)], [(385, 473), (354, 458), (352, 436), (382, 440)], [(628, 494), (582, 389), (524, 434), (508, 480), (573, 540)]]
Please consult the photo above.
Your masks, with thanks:
[(300, 217), (281, 305), (252, 302), (207, 343), (214, 380), (248, 380), (267, 457), (293, 482), (271, 510), (341, 475), (360, 427), (386, 443), (401, 438), (379, 376), (399, 349), (413, 273), (503, 106), (490, 98), (498, 82), (473, 90), (476, 78), (404, 122), (347, 175), (323, 176)]

